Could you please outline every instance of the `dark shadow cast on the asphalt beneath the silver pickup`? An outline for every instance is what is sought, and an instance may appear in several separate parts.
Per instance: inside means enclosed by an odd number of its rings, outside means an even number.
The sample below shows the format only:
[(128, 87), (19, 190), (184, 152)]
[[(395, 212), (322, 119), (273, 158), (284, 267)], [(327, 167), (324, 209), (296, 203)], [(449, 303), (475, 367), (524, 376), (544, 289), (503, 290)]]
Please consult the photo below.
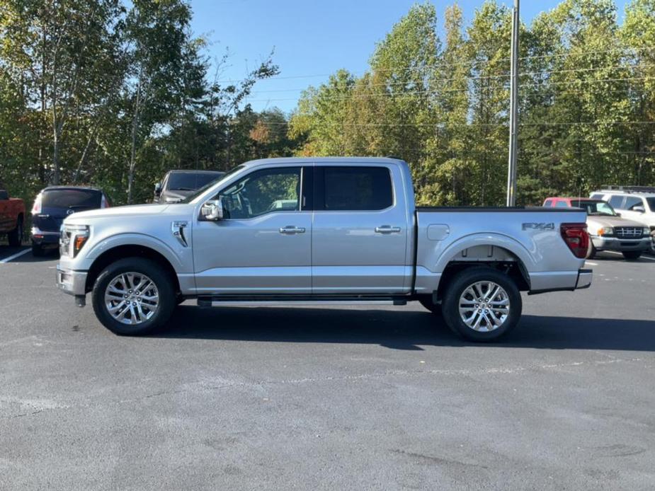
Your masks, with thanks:
[(530, 347), (549, 350), (655, 351), (655, 321), (523, 316), (500, 342), (474, 344), (425, 311), (343, 308), (197, 308), (180, 306), (153, 337), (257, 342)]

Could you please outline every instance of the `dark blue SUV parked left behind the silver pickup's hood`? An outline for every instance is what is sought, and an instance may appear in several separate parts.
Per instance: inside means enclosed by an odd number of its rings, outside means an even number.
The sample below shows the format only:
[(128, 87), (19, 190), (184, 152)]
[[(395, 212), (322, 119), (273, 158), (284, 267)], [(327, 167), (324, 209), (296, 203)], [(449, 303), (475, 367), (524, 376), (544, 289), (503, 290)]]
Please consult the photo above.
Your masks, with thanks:
[(89, 209), (108, 208), (103, 190), (83, 186), (50, 186), (41, 190), (32, 207), (32, 253), (42, 256), (59, 245), (64, 218)]

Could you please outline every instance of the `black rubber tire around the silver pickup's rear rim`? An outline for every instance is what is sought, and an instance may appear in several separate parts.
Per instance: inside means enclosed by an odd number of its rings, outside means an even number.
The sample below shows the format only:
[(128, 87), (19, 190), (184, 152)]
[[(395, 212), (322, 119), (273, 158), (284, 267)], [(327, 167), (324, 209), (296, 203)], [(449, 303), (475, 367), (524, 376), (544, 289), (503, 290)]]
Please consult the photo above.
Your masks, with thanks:
[[(469, 327), (460, 316), (460, 296), (477, 282), (496, 283), (505, 290), (509, 300), (509, 311), (501, 325), (486, 332)], [(445, 288), (441, 306), (445, 322), (455, 333), (469, 341), (490, 342), (506, 335), (516, 327), (523, 309), (523, 302), (518, 287), (507, 275), (491, 267), (469, 267), (450, 280)], [(472, 311), (474, 310), (473, 308)]]

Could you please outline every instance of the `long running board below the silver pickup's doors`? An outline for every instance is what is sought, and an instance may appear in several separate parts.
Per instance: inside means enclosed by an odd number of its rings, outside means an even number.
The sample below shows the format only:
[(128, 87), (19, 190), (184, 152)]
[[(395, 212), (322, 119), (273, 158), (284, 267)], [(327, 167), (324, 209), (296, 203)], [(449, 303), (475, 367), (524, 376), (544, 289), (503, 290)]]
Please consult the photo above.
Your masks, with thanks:
[(200, 307), (270, 305), (406, 305), (405, 296), (380, 295), (217, 295), (199, 296)]

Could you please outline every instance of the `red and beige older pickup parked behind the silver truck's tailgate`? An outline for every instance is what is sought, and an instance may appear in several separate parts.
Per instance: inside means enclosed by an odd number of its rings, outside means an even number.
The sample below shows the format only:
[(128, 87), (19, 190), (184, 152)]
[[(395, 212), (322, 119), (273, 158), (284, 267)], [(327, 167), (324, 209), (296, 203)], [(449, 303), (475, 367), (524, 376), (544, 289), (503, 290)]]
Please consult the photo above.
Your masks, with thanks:
[(599, 250), (620, 252), (626, 259), (639, 259), (651, 248), (650, 229), (639, 221), (625, 219), (603, 200), (590, 198), (549, 197), (545, 207), (581, 208), (587, 212), (587, 229), (591, 236), (589, 257)]

